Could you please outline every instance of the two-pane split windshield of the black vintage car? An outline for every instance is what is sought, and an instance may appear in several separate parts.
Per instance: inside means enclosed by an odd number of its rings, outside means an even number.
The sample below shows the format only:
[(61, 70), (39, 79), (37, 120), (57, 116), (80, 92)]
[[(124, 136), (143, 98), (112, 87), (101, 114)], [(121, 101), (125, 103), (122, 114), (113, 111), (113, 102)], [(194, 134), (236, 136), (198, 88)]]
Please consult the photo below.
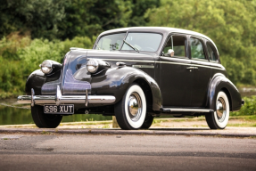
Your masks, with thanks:
[(158, 33), (128, 33), (124, 43), (125, 35), (126, 33), (119, 33), (101, 37), (95, 49), (156, 52), (162, 37), (161, 34)]

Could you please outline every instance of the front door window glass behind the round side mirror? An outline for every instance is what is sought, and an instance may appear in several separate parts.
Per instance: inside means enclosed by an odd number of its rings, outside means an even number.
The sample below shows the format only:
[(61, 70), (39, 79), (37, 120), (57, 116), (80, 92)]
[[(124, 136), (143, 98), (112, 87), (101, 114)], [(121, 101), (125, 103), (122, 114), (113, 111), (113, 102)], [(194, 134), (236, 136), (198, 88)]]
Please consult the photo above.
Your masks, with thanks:
[(170, 37), (163, 49), (163, 53), (167, 53), (169, 49), (172, 49), (171, 42), (173, 42), (174, 56), (186, 57), (186, 37), (172, 36), (172, 39)]

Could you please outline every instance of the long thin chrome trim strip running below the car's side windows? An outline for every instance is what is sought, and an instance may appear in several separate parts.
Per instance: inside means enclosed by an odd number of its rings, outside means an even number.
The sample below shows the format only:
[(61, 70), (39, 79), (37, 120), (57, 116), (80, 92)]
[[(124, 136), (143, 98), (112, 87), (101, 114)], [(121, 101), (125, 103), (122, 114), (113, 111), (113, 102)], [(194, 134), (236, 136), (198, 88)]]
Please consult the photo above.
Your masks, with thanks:
[[(115, 59), (101, 59), (101, 60), (106, 60), (106, 61), (137, 61), (137, 62), (151, 62), (151, 63), (167, 63), (167, 64), (175, 64), (175, 65), (191, 65), (194, 67), (203, 67), (203, 68), (209, 68), (209, 69), (219, 69), (219, 70), (224, 70), (221, 68), (216, 68), (216, 67), (211, 67), (211, 66), (204, 66), (204, 65), (197, 65), (193, 63), (180, 63), (180, 62), (171, 62), (171, 61), (139, 61), (139, 60), (115, 60)], [(178, 60), (183, 60), (183, 59), (178, 59)], [(186, 59), (186, 61), (189, 59)], [(210, 64), (210, 62), (209, 62)]]

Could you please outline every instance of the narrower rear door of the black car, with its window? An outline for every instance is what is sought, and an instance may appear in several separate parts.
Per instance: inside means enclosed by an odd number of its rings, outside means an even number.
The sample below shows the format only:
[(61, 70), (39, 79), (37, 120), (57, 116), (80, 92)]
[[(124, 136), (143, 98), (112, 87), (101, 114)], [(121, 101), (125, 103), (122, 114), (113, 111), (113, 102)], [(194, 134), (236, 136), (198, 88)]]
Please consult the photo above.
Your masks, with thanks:
[(211, 81), (210, 62), (201, 37), (189, 37), (189, 49), (191, 56), (190, 71), (193, 75), (191, 106), (203, 108), (206, 106), (208, 87)]

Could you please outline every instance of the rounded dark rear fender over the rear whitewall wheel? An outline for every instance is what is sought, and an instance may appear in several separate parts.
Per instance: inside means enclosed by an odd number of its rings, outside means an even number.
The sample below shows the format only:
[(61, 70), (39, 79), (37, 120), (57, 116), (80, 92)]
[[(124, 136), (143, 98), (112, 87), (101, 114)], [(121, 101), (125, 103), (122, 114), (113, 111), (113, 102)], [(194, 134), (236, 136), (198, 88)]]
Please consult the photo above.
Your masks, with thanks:
[(230, 103), (230, 110), (240, 110), (242, 106), (241, 94), (235, 85), (224, 75), (216, 74), (211, 81), (209, 88), (208, 105), (211, 110), (216, 110), (216, 98), (219, 91), (224, 91), (227, 94)]

